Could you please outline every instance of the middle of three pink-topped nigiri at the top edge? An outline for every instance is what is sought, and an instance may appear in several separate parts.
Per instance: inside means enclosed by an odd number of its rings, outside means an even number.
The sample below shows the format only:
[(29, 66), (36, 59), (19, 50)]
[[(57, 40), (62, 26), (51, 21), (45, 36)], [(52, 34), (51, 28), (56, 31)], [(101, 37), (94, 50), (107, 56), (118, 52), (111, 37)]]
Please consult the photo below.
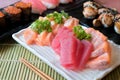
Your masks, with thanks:
[(41, 2), (48, 8), (54, 9), (59, 5), (59, 0), (41, 0)]

